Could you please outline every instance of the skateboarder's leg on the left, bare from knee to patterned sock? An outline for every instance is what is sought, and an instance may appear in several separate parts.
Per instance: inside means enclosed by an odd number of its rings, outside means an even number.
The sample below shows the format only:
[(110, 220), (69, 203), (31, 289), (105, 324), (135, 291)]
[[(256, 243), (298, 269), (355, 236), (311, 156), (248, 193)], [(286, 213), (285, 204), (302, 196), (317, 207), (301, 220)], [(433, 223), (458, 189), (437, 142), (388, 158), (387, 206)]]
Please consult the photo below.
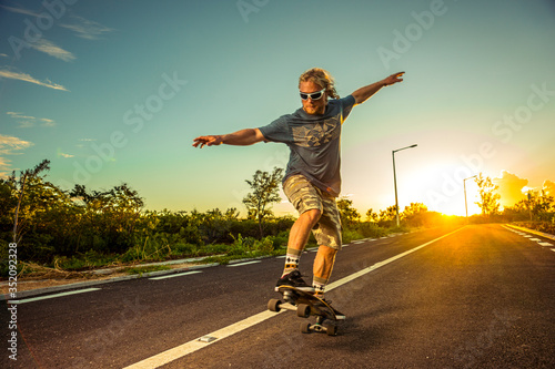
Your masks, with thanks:
[(311, 229), (316, 225), (321, 215), (322, 212), (315, 208), (306, 211), (299, 216), (291, 227), (282, 277), (299, 268), (299, 260), (304, 246), (309, 242)]

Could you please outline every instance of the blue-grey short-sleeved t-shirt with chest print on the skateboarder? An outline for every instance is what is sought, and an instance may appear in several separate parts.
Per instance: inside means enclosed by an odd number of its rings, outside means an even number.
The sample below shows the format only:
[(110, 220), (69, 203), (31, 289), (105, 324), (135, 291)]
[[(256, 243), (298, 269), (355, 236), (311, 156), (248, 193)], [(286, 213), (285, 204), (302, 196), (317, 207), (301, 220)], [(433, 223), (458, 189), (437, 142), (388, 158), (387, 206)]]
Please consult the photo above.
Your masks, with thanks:
[(283, 181), (302, 174), (316, 187), (339, 196), (341, 125), (354, 104), (352, 95), (330, 100), (322, 115), (307, 114), (301, 107), (259, 129), (268, 141), (282, 142), (291, 150)]

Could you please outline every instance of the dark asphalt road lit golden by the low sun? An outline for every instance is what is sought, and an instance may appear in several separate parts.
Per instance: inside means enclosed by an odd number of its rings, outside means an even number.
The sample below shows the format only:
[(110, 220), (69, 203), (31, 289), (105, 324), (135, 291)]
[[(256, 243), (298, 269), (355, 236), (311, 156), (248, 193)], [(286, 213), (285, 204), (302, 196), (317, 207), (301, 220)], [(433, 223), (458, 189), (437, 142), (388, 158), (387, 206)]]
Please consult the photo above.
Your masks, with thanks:
[(555, 246), (531, 238), (478, 225), (349, 245), (326, 295), (347, 316), (335, 337), (265, 310), (282, 258), (22, 300), (17, 361), (2, 301), (0, 367), (555, 368)]

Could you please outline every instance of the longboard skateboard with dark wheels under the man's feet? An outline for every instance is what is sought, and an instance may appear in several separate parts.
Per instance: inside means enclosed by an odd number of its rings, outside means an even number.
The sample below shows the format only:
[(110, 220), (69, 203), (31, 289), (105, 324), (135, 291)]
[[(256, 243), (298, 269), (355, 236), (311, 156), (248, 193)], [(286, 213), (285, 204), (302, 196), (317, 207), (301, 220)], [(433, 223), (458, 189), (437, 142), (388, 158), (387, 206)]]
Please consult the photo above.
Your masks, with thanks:
[[(287, 309), (296, 311), (296, 316), (301, 318), (316, 317), (316, 324), (303, 321), (301, 324), (301, 332), (322, 332), (327, 336), (337, 334), (337, 320), (341, 320), (335, 315), (335, 310), (324, 300), (315, 297), (312, 294), (296, 289), (291, 286), (281, 286), (278, 291), (282, 294), (284, 301), (281, 299), (271, 299), (268, 301), (268, 309), (271, 311), (281, 311)], [(329, 320), (326, 322), (326, 320)]]

